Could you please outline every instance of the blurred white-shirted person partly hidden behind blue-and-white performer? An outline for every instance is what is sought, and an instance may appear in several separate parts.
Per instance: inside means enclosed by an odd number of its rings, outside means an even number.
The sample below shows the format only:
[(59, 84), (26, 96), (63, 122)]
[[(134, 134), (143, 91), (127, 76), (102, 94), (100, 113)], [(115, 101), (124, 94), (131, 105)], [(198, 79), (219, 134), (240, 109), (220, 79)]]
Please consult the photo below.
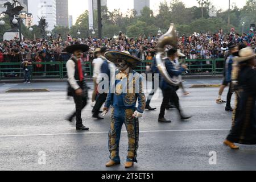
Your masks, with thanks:
[(104, 62), (104, 59), (101, 57), (101, 48), (96, 48), (94, 51), (96, 55), (96, 59), (93, 60), (93, 83), (94, 83), (94, 90), (92, 93), (92, 104), (91, 106), (94, 107), (96, 104), (96, 97), (97, 97), (97, 88), (98, 88), (98, 75), (101, 73), (101, 65)]

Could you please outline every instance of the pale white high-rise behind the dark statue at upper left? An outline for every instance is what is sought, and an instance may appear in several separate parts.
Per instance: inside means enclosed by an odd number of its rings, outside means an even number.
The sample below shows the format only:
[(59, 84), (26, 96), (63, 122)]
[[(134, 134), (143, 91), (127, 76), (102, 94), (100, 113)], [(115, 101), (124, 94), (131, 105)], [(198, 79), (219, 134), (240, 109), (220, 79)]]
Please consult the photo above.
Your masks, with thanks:
[(38, 24), (39, 19), (44, 16), (49, 30), (57, 24), (56, 0), (28, 0), (28, 13), (33, 15), (34, 24)]

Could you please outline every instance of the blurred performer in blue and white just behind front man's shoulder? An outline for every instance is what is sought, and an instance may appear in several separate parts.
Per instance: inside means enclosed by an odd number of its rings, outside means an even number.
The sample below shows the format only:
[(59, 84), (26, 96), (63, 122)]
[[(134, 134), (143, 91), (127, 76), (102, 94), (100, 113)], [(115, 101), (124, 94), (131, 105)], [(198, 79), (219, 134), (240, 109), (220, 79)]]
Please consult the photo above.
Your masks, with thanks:
[[(98, 76), (97, 84), (99, 84), (101, 81), (104, 81), (106, 79), (106, 80), (109, 81), (108, 86), (110, 86), (111, 73), (113, 74), (115, 72), (115, 65), (112, 62), (110, 62), (109, 60), (106, 60), (106, 58), (104, 57), (106, 51), (107, 51), (107, 48), (105, 48), (105, 47), (101, 48), (100, 58), (103, 59), (104, 62), (101, 65), (101, 73)], [(102, 89), (105, 91), (105, 88), (102, 88)], [(101, 118), (98, 114), (100, 114), (101, 106), (106, 101), (107, 96), (108, 96), (108, 92), (98, 94), (96, 104), (94, 105), (93, 111), (92, 111), (93, 112), (93, 116), (92, 116), (93, 118), (95, 118), (95, 119), (104, 119), (104, 118)]]

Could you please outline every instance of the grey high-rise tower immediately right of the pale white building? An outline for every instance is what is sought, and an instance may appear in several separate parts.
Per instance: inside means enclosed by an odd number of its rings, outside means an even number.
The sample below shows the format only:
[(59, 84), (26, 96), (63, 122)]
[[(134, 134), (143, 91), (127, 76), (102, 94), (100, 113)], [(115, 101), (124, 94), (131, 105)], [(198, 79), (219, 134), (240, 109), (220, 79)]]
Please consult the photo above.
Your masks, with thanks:
[(68, 27), (68, 0), (56, 0), (57, 25)]

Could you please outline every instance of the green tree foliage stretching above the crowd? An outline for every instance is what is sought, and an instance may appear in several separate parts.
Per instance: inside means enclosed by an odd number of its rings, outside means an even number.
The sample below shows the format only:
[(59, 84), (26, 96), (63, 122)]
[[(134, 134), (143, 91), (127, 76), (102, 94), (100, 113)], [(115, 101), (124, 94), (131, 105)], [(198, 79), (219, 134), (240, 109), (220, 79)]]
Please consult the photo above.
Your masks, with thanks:
[[(209, 0), (197, 0), (199, 7), (193, 6), (190, 8), (185, 7), (184, 3), (180, 0), (173, 0), (170, 3), (166, 1), (160, 3), (159, 12), (153, 14), (153, 11), (148, 7), (144, 7), (141, 15), (135, 10), (129, 10), (123, 14), (120, 10), (113, 10), (110, 12), (106, 6), (101, 8), (102, 11), (102, 36), (113, 37), (114, 34), (118, 35), (122, 31), (129, 37), (136, 38), (139, 35), (148, 36), (158, 34), (158, 28), (162, 32), (168, 30), (170, 23), (176, 25), (179, 36), (191, 35), (193, 32), (217, 32), (222, 28), (224, 32), (229, 32), (231, 27), (235, 27), (237, 32), (241, 34), (242, 22), (245, 22), (245, 30), (249, 30), (251, 23), (256, 23), (256, 0), (247, 0), (246, 6), (242, 9), (234, 6), (230, 10), (230, 26), (228, 27), (228, 10), (218, 10), (217, 17), (209, 17), (209, 9), (212, 7)], [(94, 10), (94, 31), (97, 36), (97, 10)], [(10, 29), (9, 21), (4, 19), (6, 24), (0, 28), (0, 36), (6, 30)], [(79, 16), (74, 26), (71, 29), (67, 27), (56, 26), (52, 30), (52, 35), (71, 34), (73, 38), (86, 38), (91, 35), (92, 30), (88, 28), (89, 12), (85, 11)], [(26, 27), (23, 27), (23, 35), (28, 38), (40, 37), (40, 30), (37, 26), (33, 26), (34, 30), (28, 32)], [(80, 31), (81, 35), (77, 35)]]

